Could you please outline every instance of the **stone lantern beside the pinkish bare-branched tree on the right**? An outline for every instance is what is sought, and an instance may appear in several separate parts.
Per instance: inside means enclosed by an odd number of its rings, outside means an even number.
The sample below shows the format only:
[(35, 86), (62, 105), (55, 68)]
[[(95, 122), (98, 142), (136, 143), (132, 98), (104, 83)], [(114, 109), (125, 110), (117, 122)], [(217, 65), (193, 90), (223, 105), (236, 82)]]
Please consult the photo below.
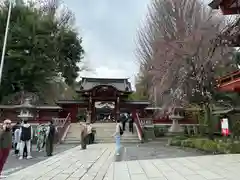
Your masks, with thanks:
[(172, 120), (172, 125), (169, 128), (169, 133), (176, 134), (176, 133), (182, 133), (183, 129), (179, 124), (179, 121), (182, 120), (184, 117), (180, 115), (180, 112), (183, 111), (183, 108), (175, 108), (173, 110), (173, 113), (169, 115), (169, 118)]

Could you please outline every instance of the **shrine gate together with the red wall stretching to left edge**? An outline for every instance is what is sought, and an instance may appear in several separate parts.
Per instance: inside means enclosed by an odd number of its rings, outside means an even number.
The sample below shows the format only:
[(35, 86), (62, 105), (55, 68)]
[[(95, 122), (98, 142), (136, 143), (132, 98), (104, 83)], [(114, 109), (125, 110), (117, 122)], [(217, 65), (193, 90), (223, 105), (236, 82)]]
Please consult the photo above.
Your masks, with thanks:
[(44, 123), (52, 118), (66, 118), (71, 122), (78, 121), (79, 112), (88, 112), (91, 122), (96, 121), (96, 102), (113, 103), (114, 108), (111, 114), (114, 119), (119, 119), (120, 111), (139, 114), (150, 104), (147, 101), (130, 101), (129, 96), (133, 93), (131, 83), (127, 78), (107, 79), (83, 77), (76, 89), (79, 99), (58, 100), (55, 106), (34, 106), (31, 104), (22, 105), (0, 105), (1, 119), (9, 118), (17, 121), (19, 110), (28, 109), (33, 114), (32, 122)]

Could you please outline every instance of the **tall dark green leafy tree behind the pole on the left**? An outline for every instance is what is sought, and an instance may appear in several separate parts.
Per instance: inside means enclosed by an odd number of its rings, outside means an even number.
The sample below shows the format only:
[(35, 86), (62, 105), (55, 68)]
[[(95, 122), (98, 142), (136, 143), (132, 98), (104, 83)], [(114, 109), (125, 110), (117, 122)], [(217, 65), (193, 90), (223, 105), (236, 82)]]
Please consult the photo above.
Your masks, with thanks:
[[(71, 86), (83, 57), (82, 39), (74, 16), (58, 0), (14, 3), (0, 86), (0, 100), (20, 92), (44, 92), (59, 76)], [(0, 47), (3, 45), (9, 1), (0, 4)]]

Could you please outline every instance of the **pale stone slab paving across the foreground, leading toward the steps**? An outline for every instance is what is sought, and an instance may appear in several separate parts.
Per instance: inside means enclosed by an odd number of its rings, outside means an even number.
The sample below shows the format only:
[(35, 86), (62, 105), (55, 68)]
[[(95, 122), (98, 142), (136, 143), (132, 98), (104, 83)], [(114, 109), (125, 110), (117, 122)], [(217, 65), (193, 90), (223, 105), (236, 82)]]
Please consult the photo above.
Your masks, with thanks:
[(10, 175), (8, 180), (238, 180), (240, 155), (115, 162), (114, 144), (75, 147)]

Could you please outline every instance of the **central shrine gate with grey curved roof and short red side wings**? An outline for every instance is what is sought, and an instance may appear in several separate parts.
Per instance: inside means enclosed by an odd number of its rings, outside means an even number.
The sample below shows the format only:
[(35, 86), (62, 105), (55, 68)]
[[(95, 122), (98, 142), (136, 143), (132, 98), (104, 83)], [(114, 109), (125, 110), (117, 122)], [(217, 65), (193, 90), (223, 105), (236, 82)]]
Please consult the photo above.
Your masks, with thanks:
[(131, 83), (127, 78), (107, 79), (83, 77), (79, 82), (76, 92), (81, 100), (59, 100), (56, 104), (62, 107), (61, 117), (71, 114), (71, 121), (77, 121), (79, 109), (85, 109), (91, 116), (91, 122), (96, 121), (96, 102), (113, 102), (114, 119), (119, 119), (120, 109), (127, 109), (128, 112), (136, 114), (143, 112), (149, 105), (147, 101), (129, 101), (133, 93)]

